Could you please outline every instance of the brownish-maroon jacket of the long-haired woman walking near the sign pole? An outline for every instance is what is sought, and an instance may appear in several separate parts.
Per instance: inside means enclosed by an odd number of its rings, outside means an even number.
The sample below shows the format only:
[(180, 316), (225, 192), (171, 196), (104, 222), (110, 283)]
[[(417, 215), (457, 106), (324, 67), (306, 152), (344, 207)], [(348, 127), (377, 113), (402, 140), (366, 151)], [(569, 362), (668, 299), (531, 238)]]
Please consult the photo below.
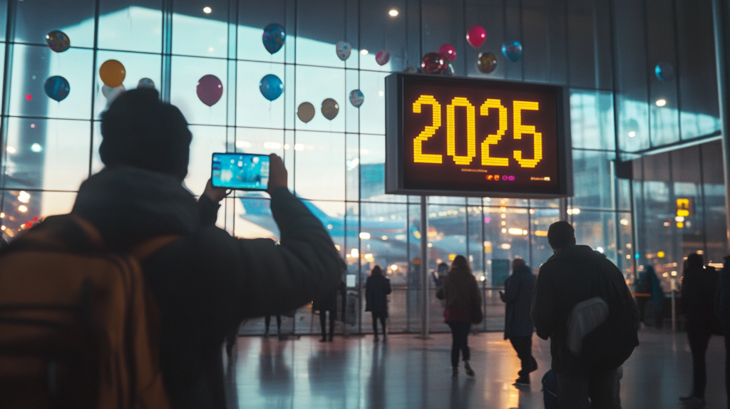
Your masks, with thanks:
[(477, 278), (469, 270), (451, 270), (444, 277), (441, 288), (436, 293), (439, 300), (445, 300), (445, 322), (472, 322), (472, 308), (481, 308)]

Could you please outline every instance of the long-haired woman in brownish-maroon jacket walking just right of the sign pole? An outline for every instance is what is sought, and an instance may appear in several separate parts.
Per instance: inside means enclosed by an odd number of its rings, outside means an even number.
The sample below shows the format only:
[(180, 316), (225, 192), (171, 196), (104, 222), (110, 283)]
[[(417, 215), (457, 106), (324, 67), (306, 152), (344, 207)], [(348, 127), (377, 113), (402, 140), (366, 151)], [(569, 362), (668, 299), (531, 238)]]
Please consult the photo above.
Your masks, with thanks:
[(474, 309), (482, 308), (477, 279), (469, 268), (464, 256), (456, 256), (451, 263), (449, 275), (444, 278), (441, 288), (436, 293), (439, 300), (445, 300), (444, 322), (451, 328), (451, 367), (453, 376), (458, 376), (458, 357), (464, 359), (466, 375), (474, 376), (469, 365), (469, 330), (475, 317)]

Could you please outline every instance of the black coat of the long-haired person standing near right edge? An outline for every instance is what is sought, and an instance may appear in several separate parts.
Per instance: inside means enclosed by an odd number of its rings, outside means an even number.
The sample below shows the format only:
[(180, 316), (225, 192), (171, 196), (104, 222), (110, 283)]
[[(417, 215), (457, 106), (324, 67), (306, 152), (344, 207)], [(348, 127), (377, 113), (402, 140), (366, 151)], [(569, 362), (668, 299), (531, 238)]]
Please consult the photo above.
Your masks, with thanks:
[(713, 334), (720, 332), (715, 317), (715, 292), (718, 271), (712, 267), (686, 270), (682, 278), (680, 306), (687, 319), (687, 332)]

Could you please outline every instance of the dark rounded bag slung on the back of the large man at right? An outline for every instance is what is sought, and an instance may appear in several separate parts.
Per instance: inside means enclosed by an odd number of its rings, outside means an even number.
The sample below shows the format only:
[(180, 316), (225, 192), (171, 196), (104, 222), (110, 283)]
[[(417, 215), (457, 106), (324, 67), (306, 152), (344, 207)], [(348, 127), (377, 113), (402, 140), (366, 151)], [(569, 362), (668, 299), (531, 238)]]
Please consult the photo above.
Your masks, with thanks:
[(607, 372), (620, 367), (639, 345), (636, 317), (608, 276), (610, 272), (604, 270), (602, 261), (593, 270), (591, 297), (604, 299), (608, 305), (608, 316), (598, 327), (585, 334), (583, 348), (577, 355), (591, 372)]

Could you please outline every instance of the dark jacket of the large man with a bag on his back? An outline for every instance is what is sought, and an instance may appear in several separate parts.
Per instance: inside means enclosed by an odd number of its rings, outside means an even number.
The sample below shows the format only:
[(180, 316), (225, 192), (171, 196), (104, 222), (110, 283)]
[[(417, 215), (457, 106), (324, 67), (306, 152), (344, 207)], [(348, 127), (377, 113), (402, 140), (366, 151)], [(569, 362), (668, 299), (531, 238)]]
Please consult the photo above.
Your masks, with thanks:
[[(621, 270), (604, 254), (593, 252), (589, 246), (560, 249), (540, 267), (530, 313), (537, 336), (544, 340), (550, 338), (552, 367), (558, 374), (583, 373), (584, 365), (570, 353), (567, 346), (567, 321), (577, 303), (594, 295), (591, 284), (599, 267), (604, 272), (600, 276), (602, 287), (618, 289), (623, 303), (629, 308), (634, 326), (639, 326), (637, 306)], [(606, 299), (607, 295), (602, 297)]]

